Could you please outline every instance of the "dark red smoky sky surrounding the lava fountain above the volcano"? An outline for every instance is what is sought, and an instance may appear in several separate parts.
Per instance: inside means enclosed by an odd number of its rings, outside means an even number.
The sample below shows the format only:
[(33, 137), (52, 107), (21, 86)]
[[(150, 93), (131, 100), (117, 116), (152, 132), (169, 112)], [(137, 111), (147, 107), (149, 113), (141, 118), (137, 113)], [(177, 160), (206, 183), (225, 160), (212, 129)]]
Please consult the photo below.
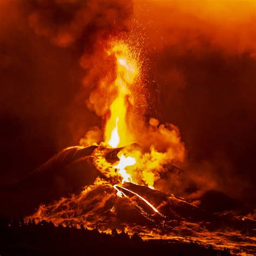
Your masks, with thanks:
[[(252, 1), (2, 0), (1, 184), (14, 183), (100, 119), (87, 110), (94, 45), (127, 29), (147, 31), (152, 115), (177, 125), (184, 166), (202, 186), (255, 199), (255, 9)], [(113, 22), (115, 21), (115, 22)], [(93, 60), (92, 60), (93, 63)], [(156, 112), (157, 111), (157, 112)], [(255, 201), (255, 200), (254, 200)]]

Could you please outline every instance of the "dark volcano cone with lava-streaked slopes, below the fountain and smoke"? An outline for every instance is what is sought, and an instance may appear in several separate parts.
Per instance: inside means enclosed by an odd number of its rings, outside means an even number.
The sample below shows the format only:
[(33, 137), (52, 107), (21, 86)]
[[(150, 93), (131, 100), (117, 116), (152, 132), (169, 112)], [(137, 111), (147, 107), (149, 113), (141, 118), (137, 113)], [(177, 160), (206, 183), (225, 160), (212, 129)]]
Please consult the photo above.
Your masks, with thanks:
[[(145, 185), (115, 185), (116, 178), (97, 169), (93, 159), (97, 152), (104, 152), (111, 164), (122, 150), (91, 146), (58, 153), (15, 187), (20, 204), (26, 201), (23, 214), (28, 214), (27, 219), (51, 221), (56, 226), (85, 226), (106, 233), (116, 229), (138, 233), (145, 240), (194, 241), (203, 246), (228, 247), (234, 253), (253, 253), (254, 220), (212, 213)], [(169, 171), (179, 173), (179, 177), (186, 175), (177, 166), (169, 166)], [(216, 204), (211, 203), (213, 207)]]

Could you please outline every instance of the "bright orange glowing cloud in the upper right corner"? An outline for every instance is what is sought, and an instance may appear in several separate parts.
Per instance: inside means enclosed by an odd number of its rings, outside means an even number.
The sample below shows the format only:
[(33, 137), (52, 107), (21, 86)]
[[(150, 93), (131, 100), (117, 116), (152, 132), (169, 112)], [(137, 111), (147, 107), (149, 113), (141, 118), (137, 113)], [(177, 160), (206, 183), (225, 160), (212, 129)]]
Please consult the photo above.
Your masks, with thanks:
[(203, 55), (215, 48), (227, 56), (248, 52), (255, 57), (253, 0), (139, 0), (134, 4), (135, 16), (145, 25), (156, 50), (167, 46), (175, 48), (176, 55), (187, 51)]

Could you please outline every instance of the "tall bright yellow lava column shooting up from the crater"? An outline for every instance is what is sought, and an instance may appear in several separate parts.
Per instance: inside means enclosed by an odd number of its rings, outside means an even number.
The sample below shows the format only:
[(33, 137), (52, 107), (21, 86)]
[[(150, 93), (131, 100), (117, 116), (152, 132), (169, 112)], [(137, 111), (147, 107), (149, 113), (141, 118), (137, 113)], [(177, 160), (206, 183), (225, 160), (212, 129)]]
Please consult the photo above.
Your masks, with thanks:
[(105, 142), (110, 147), (120, 147), (133, 142), (132, 133), (126, 122), (126, 113), (127, 101), (131, 96), (129, 86), (138, 75), (138, 67), (126, 44), (114, 45), (109, 54), (116, 57), (117, 76), (113, 85), (116, 88), (117, 97), (110, 106), (111, 114), (105, 126)]

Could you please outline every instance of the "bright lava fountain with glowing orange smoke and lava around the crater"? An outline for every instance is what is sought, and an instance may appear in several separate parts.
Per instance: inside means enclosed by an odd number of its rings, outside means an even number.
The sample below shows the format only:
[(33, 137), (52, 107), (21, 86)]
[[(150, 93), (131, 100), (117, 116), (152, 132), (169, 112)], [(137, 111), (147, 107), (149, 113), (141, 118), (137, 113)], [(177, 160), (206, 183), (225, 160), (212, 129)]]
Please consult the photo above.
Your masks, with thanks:
[[(153, 189), (154, 182), (160, 179), (160, 173), (167, 171), (164, 165), (183, 159), (184, 145), (177, 127), (169, 124), (159, 125), (158, 120), (154, 118), (151, 118), (149, 123), (145, 122), (145, 111), (142, 109), (147, 107), (147, 103), (143, 93), (143, 61), (138, 47), (124, 41), (113, 41), (108, 45), (106, 55), (113, 63), (109, 73), (114, 79), (111, 84), (107, 84), (103, 79), (98, 86), (99, 91), (109, 92), (106, 96), (108, 107), (103, 116), (104, 142), (96, 147), (90, 160), (104, 178), (97, 179), (92, 187), (106, 180), (108, 186), (117, 191), (117, 196), (126, 196), (129, 192), (150, 206), (153, 213), (159, 213), (157, 207), (149, 200), (123, 185), (131, 183)], [(143, 107), (138, 107), (142, 105)], [(91, 145), (97, 145), (91, 138), (88, 141)], [(66, 150), (71, 149), (80, 150), (83, 145)], [(115, 149), (116, 155), (108, 157), (107, 155)], [(86, 191), (88, 188), (84, 188), (83, 197)], [(41, 214), (38, 214), (39, 212)], [(42, 208), (39, 212), (34, 217), (46, 218), (42, 214)], [(144, 212), (144, 215), (147, 214)]]

